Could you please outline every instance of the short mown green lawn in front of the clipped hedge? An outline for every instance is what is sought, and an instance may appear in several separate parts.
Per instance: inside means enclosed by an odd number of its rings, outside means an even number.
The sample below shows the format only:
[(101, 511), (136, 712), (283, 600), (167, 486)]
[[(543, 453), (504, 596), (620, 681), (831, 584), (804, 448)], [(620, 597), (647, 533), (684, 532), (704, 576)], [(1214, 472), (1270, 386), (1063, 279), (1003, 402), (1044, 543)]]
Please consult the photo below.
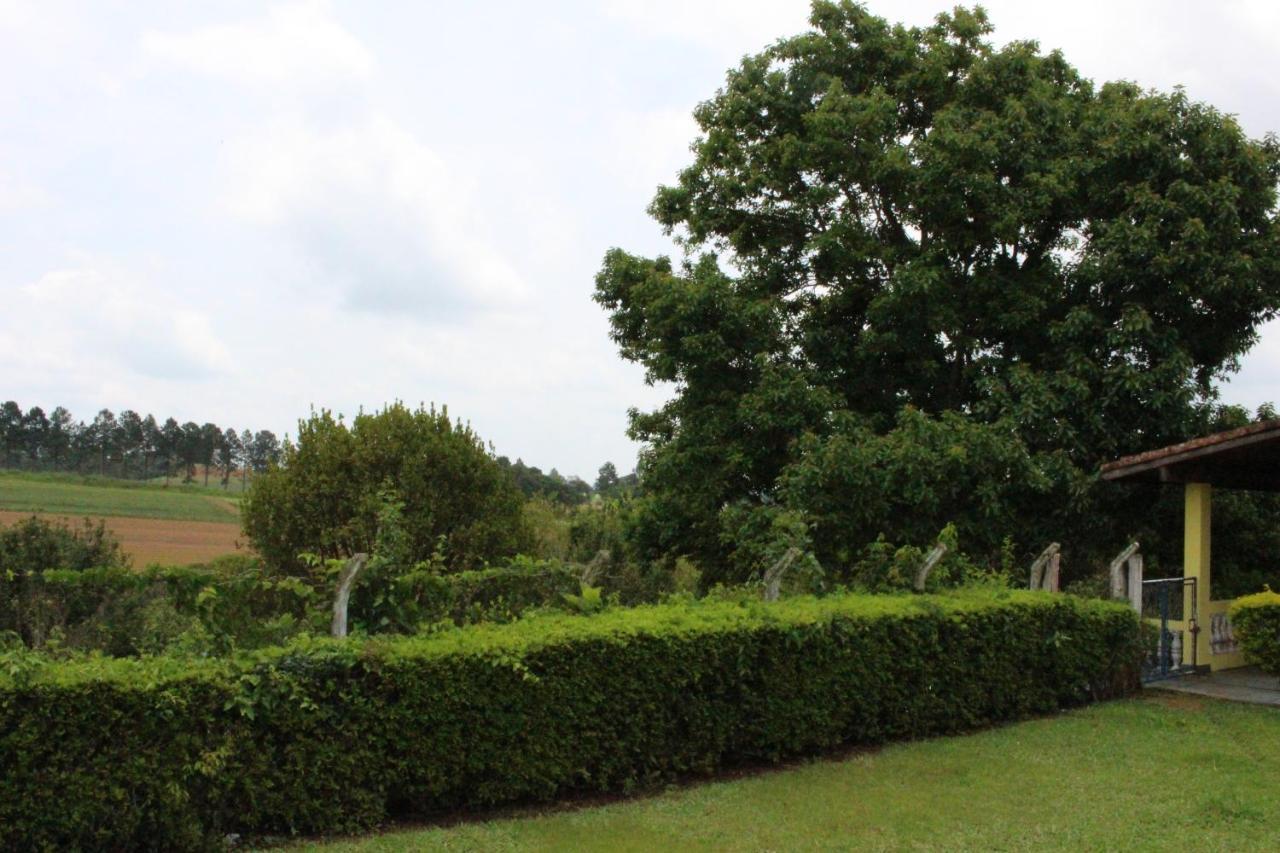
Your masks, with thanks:
[(1148, 693), (576, 811), (302, 849), (1280, 848), (1280, 710)]

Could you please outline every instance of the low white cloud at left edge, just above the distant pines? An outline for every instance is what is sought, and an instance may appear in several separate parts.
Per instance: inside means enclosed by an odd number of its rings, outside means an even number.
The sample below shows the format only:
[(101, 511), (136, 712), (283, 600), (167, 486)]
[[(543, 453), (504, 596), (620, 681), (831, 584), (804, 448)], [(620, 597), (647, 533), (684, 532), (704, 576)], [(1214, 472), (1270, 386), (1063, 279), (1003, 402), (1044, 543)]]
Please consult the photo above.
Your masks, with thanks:
[(0, 360), (28, 383), (196, 380), (233, 368), (205, 315), (109, 263), (51, 270), (4, 301)]

